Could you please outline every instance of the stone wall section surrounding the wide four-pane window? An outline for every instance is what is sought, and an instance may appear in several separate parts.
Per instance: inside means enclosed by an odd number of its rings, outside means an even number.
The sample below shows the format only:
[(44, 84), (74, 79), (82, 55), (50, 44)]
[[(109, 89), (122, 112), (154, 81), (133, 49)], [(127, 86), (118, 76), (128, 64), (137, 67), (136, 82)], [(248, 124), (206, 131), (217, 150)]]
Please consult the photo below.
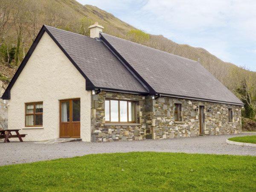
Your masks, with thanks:
[[(105, 124), (105, 99), (136, 101), (136, 124)], [(92, 95), (91, 141), (110, 142), (145, 139), (145, 96), (125, 93), (101, 92)]]

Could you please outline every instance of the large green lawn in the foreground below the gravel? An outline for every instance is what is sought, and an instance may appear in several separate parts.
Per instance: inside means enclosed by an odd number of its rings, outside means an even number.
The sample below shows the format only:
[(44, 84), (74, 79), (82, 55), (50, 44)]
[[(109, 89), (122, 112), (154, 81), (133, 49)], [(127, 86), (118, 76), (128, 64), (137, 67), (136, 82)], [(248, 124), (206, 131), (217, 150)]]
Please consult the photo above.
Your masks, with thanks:
[(1, 166), (0, 191), (256, 191), (256, 157), (131, 152)]

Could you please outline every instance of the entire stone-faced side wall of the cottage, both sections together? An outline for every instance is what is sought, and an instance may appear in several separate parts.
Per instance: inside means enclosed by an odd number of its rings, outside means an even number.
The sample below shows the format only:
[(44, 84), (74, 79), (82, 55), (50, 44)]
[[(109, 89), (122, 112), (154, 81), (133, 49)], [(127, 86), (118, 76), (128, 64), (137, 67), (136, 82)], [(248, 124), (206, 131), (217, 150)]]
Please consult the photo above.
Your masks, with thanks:
[[(112, 92), (101, 92), (91, 98), (92, 142), (198, 136), (200, 105), (204, 105), (204, 134), (241, 133), (241, 107), (236, 105)], [(106, 124), (106, 98), (137, 101), (136, 124)], [(175, 103), (182, 105), (182, 122), (174, 120)], [(228, 119), (229, 108), (233, 108), (233, 122)]]

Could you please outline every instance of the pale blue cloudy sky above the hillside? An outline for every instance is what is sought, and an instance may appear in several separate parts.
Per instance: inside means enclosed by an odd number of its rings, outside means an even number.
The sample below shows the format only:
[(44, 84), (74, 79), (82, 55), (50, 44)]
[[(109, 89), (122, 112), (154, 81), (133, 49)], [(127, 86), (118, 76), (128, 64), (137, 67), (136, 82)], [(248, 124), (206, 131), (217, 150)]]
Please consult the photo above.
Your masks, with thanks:
[(256, 0), (78, 0), (144, 32), (256, 71)]

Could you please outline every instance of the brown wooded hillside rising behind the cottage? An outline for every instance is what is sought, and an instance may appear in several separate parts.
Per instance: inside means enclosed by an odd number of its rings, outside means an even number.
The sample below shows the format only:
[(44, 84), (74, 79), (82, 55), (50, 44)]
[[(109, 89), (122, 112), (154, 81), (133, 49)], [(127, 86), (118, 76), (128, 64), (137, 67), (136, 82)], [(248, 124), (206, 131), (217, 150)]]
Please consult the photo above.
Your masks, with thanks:
[(98, 21), (105, 27), (104, 32), (107, 34), (195, 61), (200, 58), (201, 64), (210, 73), (248, 105), (250, 111), (245, 111), (244, 114), (248, 114), (245, 116), (255, 115), (256, 72), (224, 62), (203, 48), (177, 44), (163, 35), (146, 34), (104, 10), (90, 5), (83, 6), (75, 0), (0, 0), (0, 5), (3, 15), (0, 21), (0, 80), (12, 78), (14, 69), (22, 61), (43, 24), (89, 35), (88, 26)]

